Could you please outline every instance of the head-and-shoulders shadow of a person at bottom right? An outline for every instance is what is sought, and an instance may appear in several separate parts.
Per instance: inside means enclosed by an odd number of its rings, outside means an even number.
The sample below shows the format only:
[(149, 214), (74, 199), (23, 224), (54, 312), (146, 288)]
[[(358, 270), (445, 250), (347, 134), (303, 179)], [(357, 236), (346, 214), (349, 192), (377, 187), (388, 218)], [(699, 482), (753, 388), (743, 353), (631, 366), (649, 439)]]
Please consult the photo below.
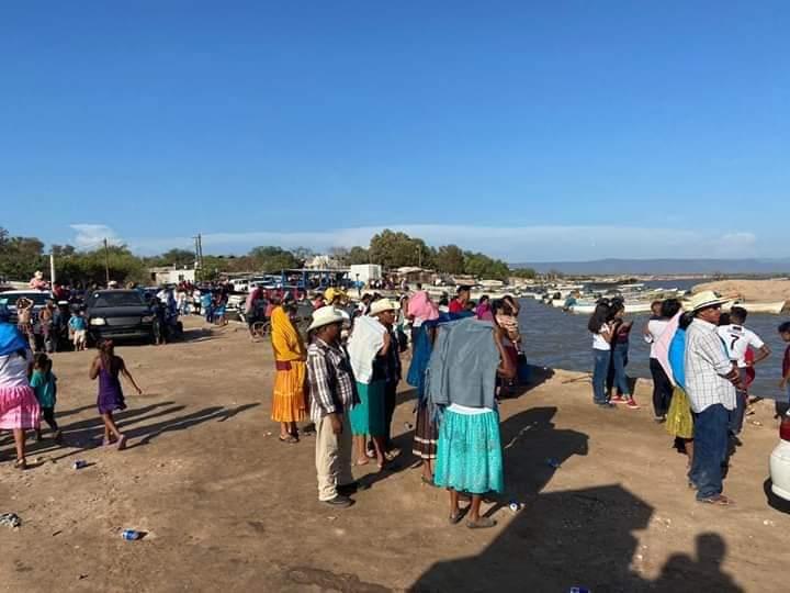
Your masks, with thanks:
[(742, 586), (722, 571), (726, 556), (726, 544), (719, 534), (706, 533), (697, 536), (697, 558), (686, 553), (672, 556), (658, 579), (653, 583), (656, 591), (715, 591), (716, 593), (741, 593)]

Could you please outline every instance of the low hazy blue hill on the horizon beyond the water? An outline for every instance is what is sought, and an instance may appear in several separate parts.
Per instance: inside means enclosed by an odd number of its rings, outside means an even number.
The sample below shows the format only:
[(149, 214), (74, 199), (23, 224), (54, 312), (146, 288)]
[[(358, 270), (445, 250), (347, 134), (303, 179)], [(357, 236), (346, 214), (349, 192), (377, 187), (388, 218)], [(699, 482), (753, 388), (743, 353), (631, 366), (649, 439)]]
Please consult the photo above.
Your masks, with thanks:
[(539, 261), (510, 264), (540, 273), (558, 271), (575, 275), (689, 275), (689, 273), (787, 273), (790, 258), (782, 259), (598, 259), (594, 261)]

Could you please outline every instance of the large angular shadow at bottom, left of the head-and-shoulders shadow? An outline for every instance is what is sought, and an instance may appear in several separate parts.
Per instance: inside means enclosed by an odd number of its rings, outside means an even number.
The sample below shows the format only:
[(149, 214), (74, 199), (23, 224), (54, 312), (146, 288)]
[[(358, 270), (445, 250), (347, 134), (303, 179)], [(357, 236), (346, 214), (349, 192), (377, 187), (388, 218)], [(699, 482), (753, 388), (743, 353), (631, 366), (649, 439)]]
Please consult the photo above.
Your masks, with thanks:
[(433, 564), (408, 591), (646, 591), (631, 559), (652, 514), (619, 484), (543, 493), (481, 553)]

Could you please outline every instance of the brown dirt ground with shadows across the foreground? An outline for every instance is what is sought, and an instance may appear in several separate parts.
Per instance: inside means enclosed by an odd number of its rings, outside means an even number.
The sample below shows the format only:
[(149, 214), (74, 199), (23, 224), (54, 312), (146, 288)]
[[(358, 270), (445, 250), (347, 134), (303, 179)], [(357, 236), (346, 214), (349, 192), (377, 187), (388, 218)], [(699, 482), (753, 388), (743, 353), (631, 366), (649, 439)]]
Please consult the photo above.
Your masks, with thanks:
[[(695, 502), (685, 458), (640, 411), (591, 405), (584, 376), (535, 372), (501, 405), (506, 485), (486, 508), (497, 527), (447, 522), (447, 494), (422, 485), (413, 457), (371, 473), (346, 511), (317, 502), (314, 444), (278, 441), (269, 419), (267, 344), (234, 326), (188, 322), (184, 343), (119, 349), (144, 388), (120, 414), (126, 451), (101, 434), (92, 353), (55, 356), (67, 445), (33, 446), (19, 472), (0, 436), (3, 591), (778, 591), (790, 515), (764, 490), (777, 422), (763, 404), (733, 458), (723, 508)], [(409, 450), (413, 394), (395, 432)], [(560, 468), (546, 462), (555, 458)], [(74, 470), (84, 459), (90, 466)], [(523, 503), (511, 513), (510, 500)], [(147, 532), (124, 541), (121, 530)]]

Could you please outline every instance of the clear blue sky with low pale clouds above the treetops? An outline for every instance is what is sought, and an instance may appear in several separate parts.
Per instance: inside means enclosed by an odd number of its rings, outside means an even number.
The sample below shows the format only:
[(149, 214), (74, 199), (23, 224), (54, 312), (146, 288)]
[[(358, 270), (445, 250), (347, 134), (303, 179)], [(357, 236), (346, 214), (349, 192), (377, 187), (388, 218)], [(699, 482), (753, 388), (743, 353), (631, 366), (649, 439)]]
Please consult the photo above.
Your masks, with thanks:
[(770, 0), (5, 3), (0, 225), (787, 257), (788, 31)]

